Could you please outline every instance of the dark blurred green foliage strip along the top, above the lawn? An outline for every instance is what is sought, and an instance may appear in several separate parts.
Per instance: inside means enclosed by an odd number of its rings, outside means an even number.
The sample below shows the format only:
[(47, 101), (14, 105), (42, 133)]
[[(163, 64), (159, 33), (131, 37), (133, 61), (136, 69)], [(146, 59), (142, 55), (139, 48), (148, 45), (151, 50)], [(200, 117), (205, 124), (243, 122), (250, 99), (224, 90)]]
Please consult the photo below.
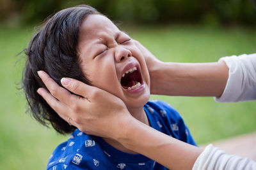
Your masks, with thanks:
[(255, 0), (3, 0), (0, 18), (15, 14), (26, 23), (42, 22), (52, 13), (77, 4), (90, 4), (113, 20), (140, 24), (184, 21), (210, 25), (256, 24)]

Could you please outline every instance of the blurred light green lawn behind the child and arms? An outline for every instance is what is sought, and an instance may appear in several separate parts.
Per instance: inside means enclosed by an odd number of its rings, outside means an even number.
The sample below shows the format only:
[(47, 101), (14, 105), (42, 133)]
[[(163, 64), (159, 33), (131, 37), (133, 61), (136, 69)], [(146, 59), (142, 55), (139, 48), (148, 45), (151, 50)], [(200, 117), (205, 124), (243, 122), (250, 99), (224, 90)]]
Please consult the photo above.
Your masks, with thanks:
[[(172, 25), (134, 26), (125, 31), (163, 61), (213, 62), (225, 55), (255, 52), (255, 29)], [(54, 148), (67, 139), (29, 117), (23, 92), (17, 90), (24, 59), (15, 55), (28, 45), (32, 32), (31, 28), (0, 27), (0, 169), (45, 169)], [(172, 104), (198, 144), (256, 131), (255, 102), (216, 103), (211, 97), (151, 98)]]

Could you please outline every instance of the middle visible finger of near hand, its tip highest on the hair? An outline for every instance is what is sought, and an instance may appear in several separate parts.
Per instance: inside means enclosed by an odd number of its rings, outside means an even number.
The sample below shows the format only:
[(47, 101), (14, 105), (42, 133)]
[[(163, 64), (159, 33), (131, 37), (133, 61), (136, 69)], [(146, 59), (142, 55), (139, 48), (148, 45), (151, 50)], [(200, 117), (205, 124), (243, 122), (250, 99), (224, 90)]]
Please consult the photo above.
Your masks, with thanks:
[(52, 96), (56, 97), (59, 101), (68, 104), (70, 103), (70, 100), (74, 99), (74, 95), (70, 94), (68, 90), (64, 89), (63, 87), (60, 87), (52, 78), (45, 73), (44, 71), (38, 71), (38, 75), (44, 82), (45, 86), (49, 90), (49, 92), (52, 94)]

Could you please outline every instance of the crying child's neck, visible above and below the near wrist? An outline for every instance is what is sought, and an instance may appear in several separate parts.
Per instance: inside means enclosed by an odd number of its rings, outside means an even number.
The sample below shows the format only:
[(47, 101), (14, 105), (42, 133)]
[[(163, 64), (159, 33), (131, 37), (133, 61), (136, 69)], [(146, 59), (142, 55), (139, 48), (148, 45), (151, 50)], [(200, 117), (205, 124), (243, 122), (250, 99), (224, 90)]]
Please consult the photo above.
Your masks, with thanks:
[[(132, 110), (128, 108), (128, 110), (131, 113), (132, 117), (136, 118), (137, 120), (139, 120), (140, 122), (142, 122), (146, 125), (149, 125), (148, 117), (147, 117), (147, 114), (145, 113), (143, 107), (142, 108), (132, 108)], [(106, 143), (113, 146), (117, 150), (120, 150), (120, 151), (126, 152), (126, 153), (136, 154), (136, 152), (133, 152), (132, 150), (128, 150), (123, 145), (118, 143), (118, 141), (115, 141), (110, 138), (102, 138), (102, 139), (104, 139), (104, 141), (106, 141)]]

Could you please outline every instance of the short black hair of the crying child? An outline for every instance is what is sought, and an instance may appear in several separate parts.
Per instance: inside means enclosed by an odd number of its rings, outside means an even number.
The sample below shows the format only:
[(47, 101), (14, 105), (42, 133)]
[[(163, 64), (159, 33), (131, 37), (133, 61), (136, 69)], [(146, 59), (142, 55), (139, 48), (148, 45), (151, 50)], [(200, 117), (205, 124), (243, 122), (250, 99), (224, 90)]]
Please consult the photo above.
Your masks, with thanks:
[(76, 127), (68, 125), (36, 92), (38, 88), (45, 87), (37, 71), (45, 71), (60, 86), (63, 77), (75, 78), (90, 85), (79, 65), (77, 41), (81, 22), (92, 14), (100, 13), (87, 5), (59, 11), (42, 25), (25, 49), (27, 58), (22, 89), (28, 101), (28, 111), (40, 124), (49, 127), (50, 123), (61, 134), (70, 133)]

